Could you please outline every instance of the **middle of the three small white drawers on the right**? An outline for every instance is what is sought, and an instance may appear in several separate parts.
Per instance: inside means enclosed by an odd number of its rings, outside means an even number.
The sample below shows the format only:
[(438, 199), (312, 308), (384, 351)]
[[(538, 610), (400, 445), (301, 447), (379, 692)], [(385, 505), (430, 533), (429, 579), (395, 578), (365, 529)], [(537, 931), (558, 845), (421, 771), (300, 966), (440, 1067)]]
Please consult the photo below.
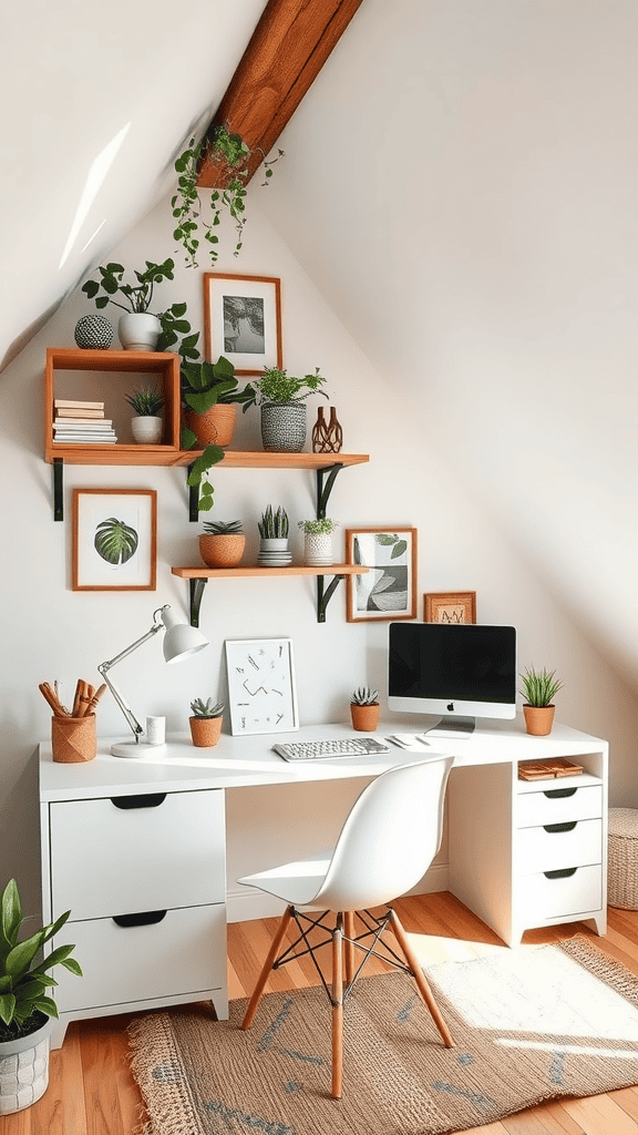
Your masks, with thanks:
[(514, 839), (519, 875), (603, 861), (601, 819), (572, 819), (546, 827), (522, 827)]

